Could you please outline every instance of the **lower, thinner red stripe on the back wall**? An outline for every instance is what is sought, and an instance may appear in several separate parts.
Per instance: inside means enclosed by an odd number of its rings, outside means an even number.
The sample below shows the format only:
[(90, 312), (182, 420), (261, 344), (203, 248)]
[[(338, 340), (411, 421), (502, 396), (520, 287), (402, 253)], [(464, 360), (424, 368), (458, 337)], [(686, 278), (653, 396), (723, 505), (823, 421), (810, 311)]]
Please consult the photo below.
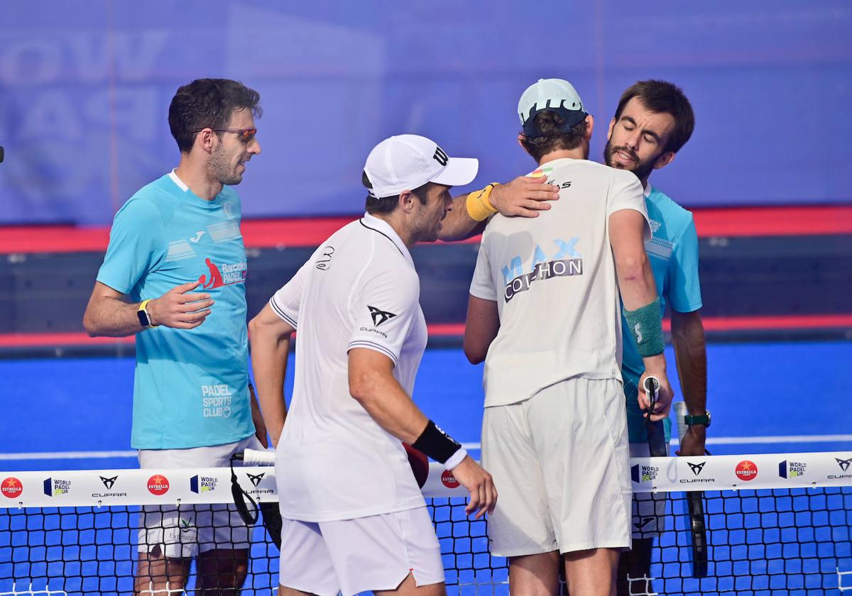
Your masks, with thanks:
[[(852, 314), (797, 315), (778, 317), (705, 317), (704, 328), (708, 331), (751, 331), (751, 330), (808, 330), (852, 328)], [(663, 321), (668, 331), (671, 324)], [(452, 337), (464, 335), (463, 323), (429, 325), (429, 335)], [(0, 347), (62, 347), (126, 345), (133, 337), (89, 337), (85, 333), (10, 333), (0, 334)]]

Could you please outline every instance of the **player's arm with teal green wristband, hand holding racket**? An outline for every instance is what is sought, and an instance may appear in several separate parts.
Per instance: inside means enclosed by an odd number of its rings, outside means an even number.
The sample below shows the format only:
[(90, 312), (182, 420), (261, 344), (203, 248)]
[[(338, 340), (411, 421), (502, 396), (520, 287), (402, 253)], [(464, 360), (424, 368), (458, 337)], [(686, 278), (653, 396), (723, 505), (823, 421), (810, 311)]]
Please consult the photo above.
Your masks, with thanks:
[[(609, 216), (609, 239), (625, 318), (645, 364), (639, 387), (648, 375), (656, 376), (660, 383), (658, 406), (651, 415), (651, 419), (656, 421), (669, 414), (672, 393), (665, 374), (665, 346), (657, 285), (645, 252), (645, 226), (645, 217), (635, 209), (619, 209)], [(639, 392), (639, 402), (643, 410), (648, 409), (650, 404), (642, 391)]]

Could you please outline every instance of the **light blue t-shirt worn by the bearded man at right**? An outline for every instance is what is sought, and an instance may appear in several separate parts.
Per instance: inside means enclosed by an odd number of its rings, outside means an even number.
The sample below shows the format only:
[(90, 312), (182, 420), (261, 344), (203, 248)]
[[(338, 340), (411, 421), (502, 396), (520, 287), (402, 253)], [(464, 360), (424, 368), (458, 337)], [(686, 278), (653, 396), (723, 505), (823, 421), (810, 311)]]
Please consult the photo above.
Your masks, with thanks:
[[(645, 206), (651, 222), (653, 238), (645, 243), (651, 261), (653, 280), (659, 292), (659, 306), (671, 305), (677, 312), (694, 312), (701, 307), (701, 287), (698, 278), (698, 234), (692, 214), (648, 185)], [(622, 317), (624, 355), (621, 375), (625, 381), (627, 400), (627, 428), (630, 443), (647, 443), (648, 429), (642, 410), (636, 403), (639, 377), (645, 371), (642, 357)], [(666, 418), (665, 440), (671, 439), (671, 418)]]

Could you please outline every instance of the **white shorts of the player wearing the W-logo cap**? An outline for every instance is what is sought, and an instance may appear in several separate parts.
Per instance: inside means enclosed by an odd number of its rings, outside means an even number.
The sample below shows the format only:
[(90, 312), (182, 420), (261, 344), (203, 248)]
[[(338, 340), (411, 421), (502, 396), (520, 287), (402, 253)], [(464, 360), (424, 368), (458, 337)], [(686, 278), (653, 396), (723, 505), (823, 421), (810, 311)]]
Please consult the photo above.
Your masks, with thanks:
[(283, 522), (279, 583), (284, 587), (349, 596), (393, 590), (408, 574), (417, 586), (444, 582), (426, 507), (341, 521)]

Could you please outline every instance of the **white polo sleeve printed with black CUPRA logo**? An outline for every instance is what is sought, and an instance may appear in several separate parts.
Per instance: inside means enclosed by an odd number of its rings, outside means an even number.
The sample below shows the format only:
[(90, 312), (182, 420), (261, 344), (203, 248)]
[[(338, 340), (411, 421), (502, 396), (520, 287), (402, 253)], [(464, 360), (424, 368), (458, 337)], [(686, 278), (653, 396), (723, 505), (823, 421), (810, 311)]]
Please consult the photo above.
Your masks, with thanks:
[(395, 366), (421, 312), (417, 274), (389, 269), (375, 272), (360, 288), (352, 308), (354, 326), (347, 350), (366, 347), (383, 353)]

